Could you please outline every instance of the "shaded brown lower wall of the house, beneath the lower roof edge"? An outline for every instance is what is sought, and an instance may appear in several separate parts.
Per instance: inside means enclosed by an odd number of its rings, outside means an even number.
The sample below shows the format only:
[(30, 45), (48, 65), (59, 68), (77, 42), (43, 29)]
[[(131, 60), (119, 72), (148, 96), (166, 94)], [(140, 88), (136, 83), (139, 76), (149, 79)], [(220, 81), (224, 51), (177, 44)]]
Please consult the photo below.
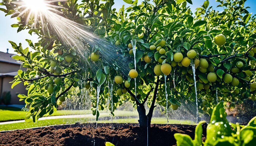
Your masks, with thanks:
[(11, 88), (12, 82), (14, 80), (13, 77), (5, 77), (3, 78), (3, 92), (11, 92), (12, 98), (11, 98), (11, 104), (25, 104), (24, 101), (19, 101), (18, 94), (27, 94), (26, 87), (23, 85), (23, 83), (19, 83), (16, 85), (13, 89)]

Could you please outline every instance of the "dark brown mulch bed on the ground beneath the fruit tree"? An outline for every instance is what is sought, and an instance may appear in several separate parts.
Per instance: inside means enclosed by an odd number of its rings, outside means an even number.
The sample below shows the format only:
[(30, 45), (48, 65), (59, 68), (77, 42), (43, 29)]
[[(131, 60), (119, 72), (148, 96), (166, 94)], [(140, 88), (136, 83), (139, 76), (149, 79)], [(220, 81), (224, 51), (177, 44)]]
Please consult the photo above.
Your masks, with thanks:
[[(113, 128), (114, 127), (114, 128)], [(203, 125), (203, 140), (206, 125)], [(188, 134), (194, 139), (195, 126), (190, 125), (152, 125), (148, 130), (148, 143), (151, 146), (171, 146), (176, 144), (174, 133)], [(0, 133), (0, 145), (71, 145), (103, 146), (106, 141), (116, 146), (147, 145), (147, 129), (137, 124), (75, 124), (39, 129), (15, 130)]]

